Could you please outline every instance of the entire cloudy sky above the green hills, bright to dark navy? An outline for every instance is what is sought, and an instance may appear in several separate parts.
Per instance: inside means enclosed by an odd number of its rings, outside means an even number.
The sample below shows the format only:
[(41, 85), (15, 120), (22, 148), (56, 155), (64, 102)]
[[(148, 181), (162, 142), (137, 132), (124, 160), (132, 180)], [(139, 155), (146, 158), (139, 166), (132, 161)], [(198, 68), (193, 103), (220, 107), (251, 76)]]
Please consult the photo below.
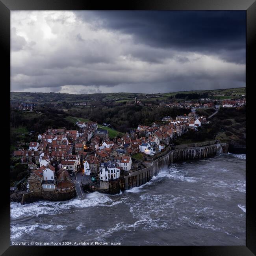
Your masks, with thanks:
[(245, 86), (245, 11), (11, 11), (11, 91)]

